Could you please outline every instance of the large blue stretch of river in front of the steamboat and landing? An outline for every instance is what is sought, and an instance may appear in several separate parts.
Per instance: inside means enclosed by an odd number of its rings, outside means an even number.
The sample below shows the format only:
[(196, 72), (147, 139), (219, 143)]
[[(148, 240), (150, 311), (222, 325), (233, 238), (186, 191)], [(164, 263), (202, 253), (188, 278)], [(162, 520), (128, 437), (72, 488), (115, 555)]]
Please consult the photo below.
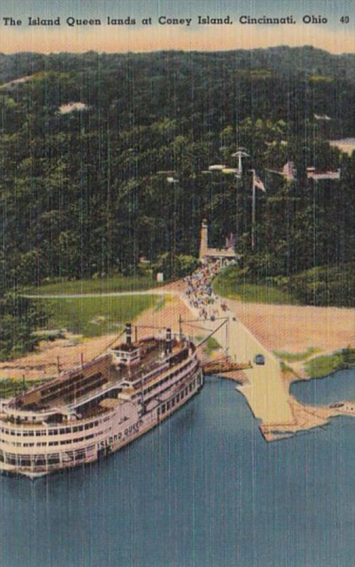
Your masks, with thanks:
[(354, 424), (266, 443), (235, 384), (210, 378), (98, 464), (1, 477), (0, 565), (350, 567)]

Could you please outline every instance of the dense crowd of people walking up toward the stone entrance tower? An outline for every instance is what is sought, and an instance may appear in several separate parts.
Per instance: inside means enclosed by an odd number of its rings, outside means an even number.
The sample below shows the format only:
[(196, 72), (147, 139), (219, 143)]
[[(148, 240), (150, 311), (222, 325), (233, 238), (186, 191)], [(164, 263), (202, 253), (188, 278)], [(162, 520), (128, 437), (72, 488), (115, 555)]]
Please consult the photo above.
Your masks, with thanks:
[(213, 293), (211, 282), (220, 269), (229, 263), (226, 259), (208, 260), (200, 268), (195, 270), (191, 276), (187, 276), (186, 296), (191, 307), (198, 309), (201, 319), (212, 319), (225, 313), (227, 305)]

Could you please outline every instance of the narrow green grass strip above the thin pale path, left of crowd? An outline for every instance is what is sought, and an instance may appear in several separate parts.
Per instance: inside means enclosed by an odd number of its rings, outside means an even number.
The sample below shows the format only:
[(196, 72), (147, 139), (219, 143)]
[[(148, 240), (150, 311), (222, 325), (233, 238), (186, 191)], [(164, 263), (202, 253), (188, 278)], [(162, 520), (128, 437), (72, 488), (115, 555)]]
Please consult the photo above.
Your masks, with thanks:
[(81, 279), (76, 281), (58, 281), (43, 286), (26, 288), (31, 295), (56, 295), (61, 293), (112, 293), (117, 291), (144, 291), (164, 284), (157, 283), (152, 275), (125, 277), (112, 276), (101, 279)]

